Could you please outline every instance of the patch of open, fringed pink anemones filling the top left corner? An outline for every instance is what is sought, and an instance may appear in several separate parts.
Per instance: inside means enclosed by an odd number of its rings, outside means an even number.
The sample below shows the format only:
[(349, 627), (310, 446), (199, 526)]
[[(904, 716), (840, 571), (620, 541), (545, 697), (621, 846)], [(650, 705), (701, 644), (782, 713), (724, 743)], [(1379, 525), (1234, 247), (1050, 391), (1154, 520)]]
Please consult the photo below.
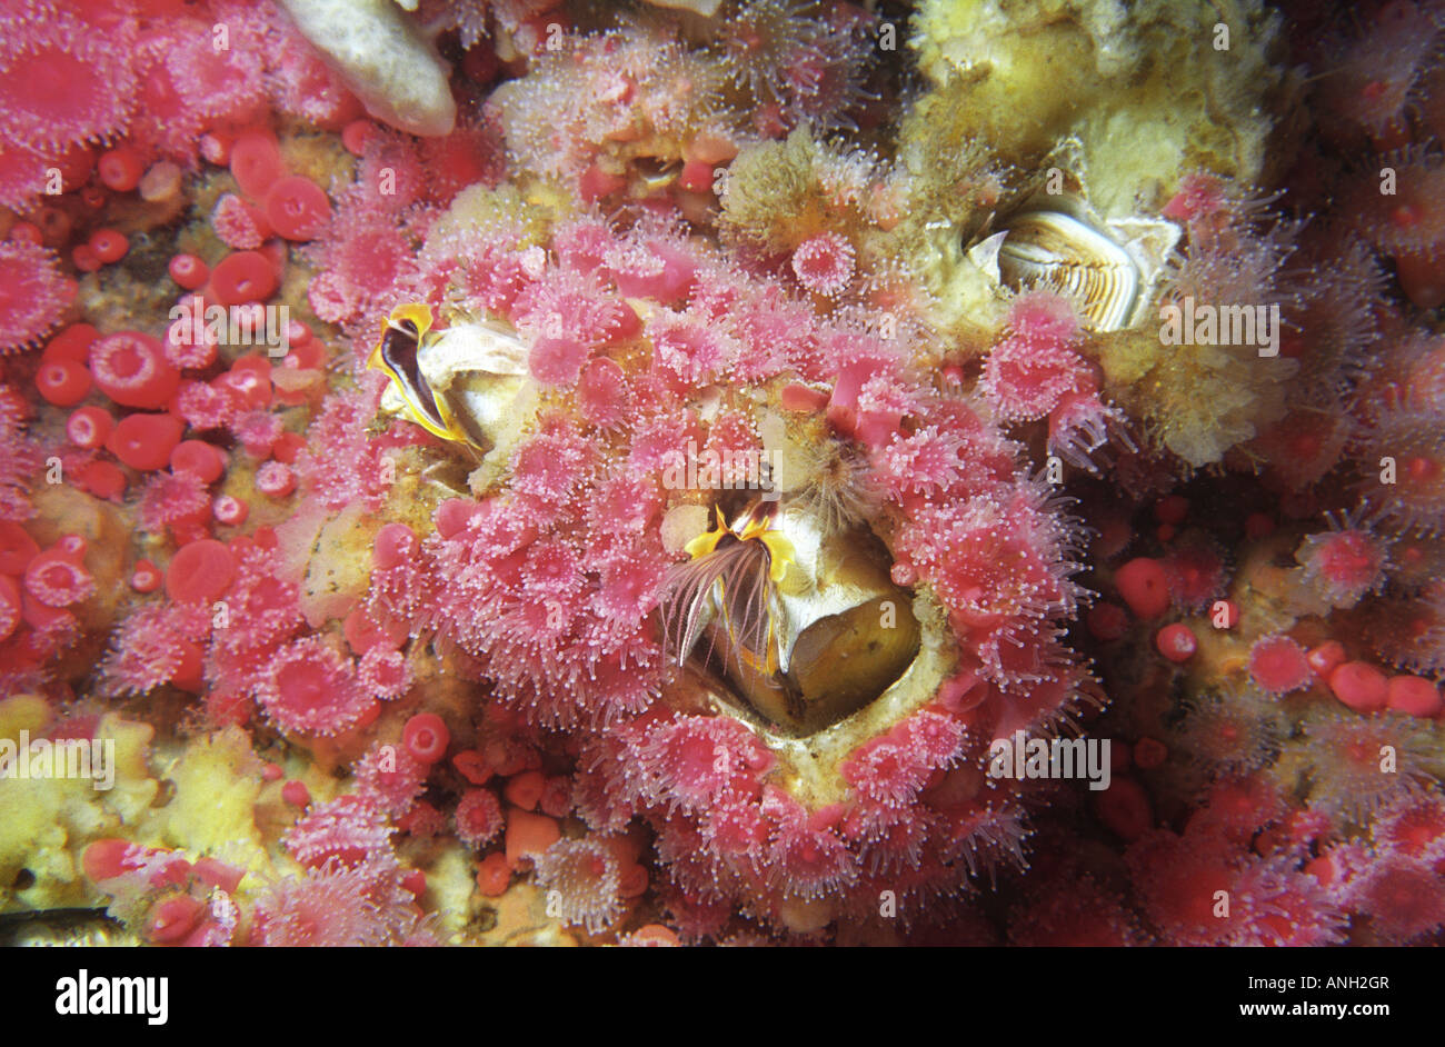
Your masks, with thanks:
[[(43, 235), (40, 246), (0, 248), (7, 293), (23, 292), (6, 310), (6, 351), (43, 336), (75, 296), (45, 250), (64, 246), (75, 214), (55, 199), (56, 188), (78, 189), (97, 173), (101, 185), (91, 191), (140, 182), (147, 199), (160, 199), (159, 186), (178, 181), (178, 166), (195, 168), (204, 136), (230, 142), (270, 111), (329, 127), (360, 113), (272, 3), (217, 4), (201, 20), (108, 3), (72, 12), (36, 0), (7, 10), (0, 35), (0, 202)], [(298, 56), (308, 78), (293, 75)]]

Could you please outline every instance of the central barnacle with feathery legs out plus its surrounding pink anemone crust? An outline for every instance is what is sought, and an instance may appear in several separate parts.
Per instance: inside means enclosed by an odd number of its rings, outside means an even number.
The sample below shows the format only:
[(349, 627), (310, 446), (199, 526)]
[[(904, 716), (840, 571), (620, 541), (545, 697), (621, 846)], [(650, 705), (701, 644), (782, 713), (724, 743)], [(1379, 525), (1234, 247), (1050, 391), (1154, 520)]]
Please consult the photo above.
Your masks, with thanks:
[[(510, 325), (545, 396), (513, 401), (529, 420), (491, 446), (428, 452), (484, 453), (474, 497), (431, 534), (381, 530), (371, 614), (574, 735), (577, 812), (649, 825), (683, 908), (808, 933), (887, 890), (918, 920), (1022, 864), (1023, 790), (988, 776), (990, 741), (1075, 724), (1095, 687), (1061, 641), (1087, 595), (1072, 520), (1020, 448), (880, 316), (798, 300), (666, 220), (565, 218), (545, 254), (493, 228), (422, 248), (452, 274), (436, 329), (457, 347)], [(477, 257), (517, 293), (475, 286)], [(590, 308), (551, 308), (565, 287)], [(780, 309), (782, 341), (760, 323)], [(527, 341), (566, 344), (568, 365)], [(819, 497), (811, 466), (840, 458)], [(840, 604), (824, 563), (873, 599)], [(850, 656), (868, 666), (834, 679)]]

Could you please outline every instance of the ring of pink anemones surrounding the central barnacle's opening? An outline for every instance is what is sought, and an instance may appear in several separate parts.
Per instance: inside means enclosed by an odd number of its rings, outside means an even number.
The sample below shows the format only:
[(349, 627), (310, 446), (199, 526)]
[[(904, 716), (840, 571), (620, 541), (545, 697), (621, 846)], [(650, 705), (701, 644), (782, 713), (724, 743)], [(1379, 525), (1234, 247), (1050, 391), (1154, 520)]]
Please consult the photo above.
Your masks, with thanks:
[[(500, 487), (445, 503), (425, 540), (389, 531), (383, 549), (379, 536), (373, 607), (465, 651), (494, 700), (591, 738), (581, 813), (604, 832), (634, 814), (652, 822), (685, 895), (721, 890), (760, 918), (805, 923), (809, 904), (832, 904), (868, 878), (906, 872), (922, 900), (1020, 861), (1026, 819), (1009, 788), (975, 794), (967, 776), (945, 787), (948, 774), (981, 758), (991, 728), (1069, 722), (1091, 683), (1056, 637), (1084, 595), (1069, 581), (1072, 526), (1022, 475), (1013, 445), (920, 381), (876, 318), (829, 316), (827, 302), (788, 306), (773, 280), (668, 227), (564, 220), (540, 266), (506, 230), (462, 246), (445, 222), (438, 228), (439, 243), (423, 251), (442, 271), (467, 264), (448, 260), (449, 244), (488, 257), (493, 270), (516, 257), (507, 300), (454, 280), (445, 305), (533, 331), (530, 370), (549, 406), (512, 449)], [(569, 306), (584, 289), (588, 306)], [(767, 338), (780, 306), (793, 319), (783, 344)], [(600, 322), (623, 309), (643, 309), (642, 323)], [(650, 348), (640, 358), (639, 336)], [(629, 413), (600, 410), (588, 381), (597, 368), (613, 383), (608, 399), (633, 404)], [(877, 491), (871, 504), (890, 520), (896, 576), (926, 585), (954, 643), (967, 637), (948, 693), (974, 695), (919, 706), (866, 741), (841, 764), (841, 794), (851, 796), (842, 806), (814, 809), (769, 784), (776, 758), (746, 719), (660, 713), (676, 674), (650, 621), (666, 599), (665, 573), (650, 566), (668, 559), (659, 527), (681, 504), (662, 482), (668, 452), (689, 438), (730, 452), (764, 443), (759, 416), (736, 393), (711, 419), (689, 401), (718, 380), (754, 396), (776, 390), (799, 425), (854, 448), (854, 482)], [(861, 523), (853, 501), (832, 500), (835, 523)], [(416, 599), (406, 579), (428, 596)], [(730, 754), (721, 777), (720, 747)], [(636, 770), (618, 777), (618, 764)]]

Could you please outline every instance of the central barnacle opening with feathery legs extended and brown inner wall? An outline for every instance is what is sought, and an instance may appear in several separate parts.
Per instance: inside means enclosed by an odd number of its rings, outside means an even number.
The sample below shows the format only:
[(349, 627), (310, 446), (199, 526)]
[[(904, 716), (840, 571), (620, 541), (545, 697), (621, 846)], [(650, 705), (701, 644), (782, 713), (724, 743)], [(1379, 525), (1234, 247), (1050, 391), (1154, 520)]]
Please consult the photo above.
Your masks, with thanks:
[(663, 604), (679, 666), (691, 659), (736, 709), (789, 737), (838, 724), (903, 677), (922, 631), (876, 534), (829, 529), (792, 501), (714, 511)]

